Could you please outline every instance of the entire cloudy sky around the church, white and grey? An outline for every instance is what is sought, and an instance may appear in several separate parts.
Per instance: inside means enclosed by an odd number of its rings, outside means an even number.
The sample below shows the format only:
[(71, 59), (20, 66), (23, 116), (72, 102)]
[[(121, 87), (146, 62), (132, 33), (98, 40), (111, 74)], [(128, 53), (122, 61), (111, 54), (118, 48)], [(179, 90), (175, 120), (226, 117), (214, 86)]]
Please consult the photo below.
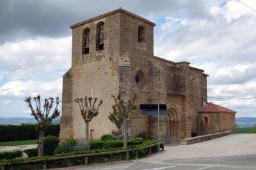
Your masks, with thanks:
[[(241, 2), (256, 10), (256, 1)], [(208, 96), (230, 98), (209, 101), (256, 117), (256, 99), (248, 99), (256, 97), (256, 11), (241, 2), (0, 1), (0, 117), (30, 117), (29, 95), (61, 97), (71, 66), (69, 26), (119, 7), (156, 22), (156, 56), (204, 69)]]

